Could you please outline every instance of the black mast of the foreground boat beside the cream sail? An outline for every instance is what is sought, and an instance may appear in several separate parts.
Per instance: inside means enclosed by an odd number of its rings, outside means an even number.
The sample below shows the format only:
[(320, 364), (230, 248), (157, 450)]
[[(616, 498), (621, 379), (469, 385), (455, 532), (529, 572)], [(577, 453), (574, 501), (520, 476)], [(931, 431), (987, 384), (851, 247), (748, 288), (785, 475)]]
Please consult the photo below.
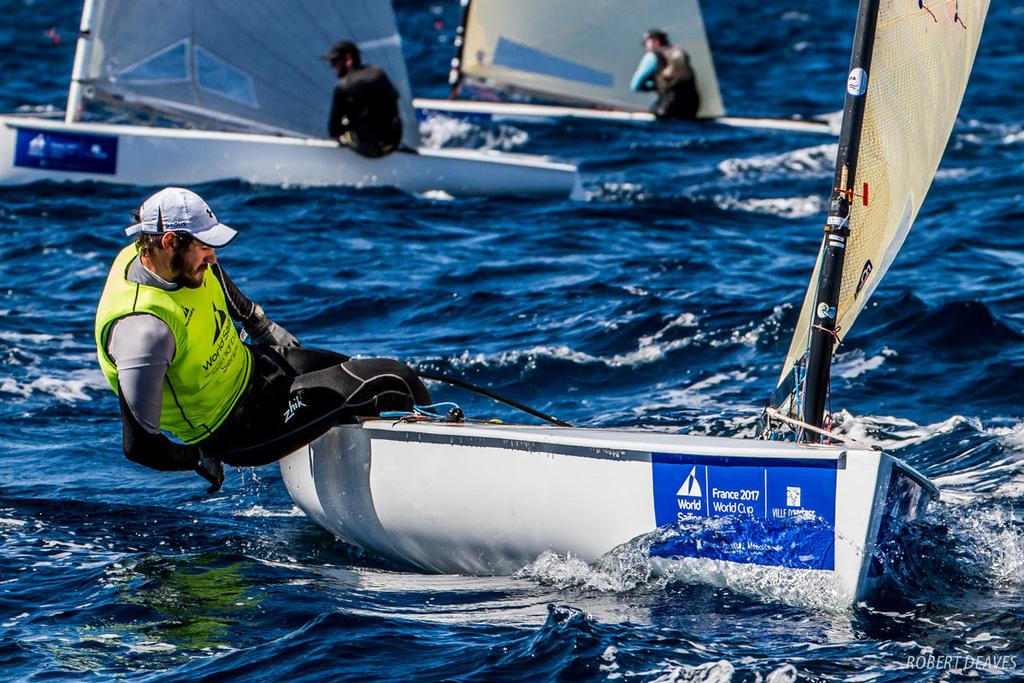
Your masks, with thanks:
[[(820, 428), (824, 423), (828, 378), (831, 370), (836, 331), (837, 305), (843, 284), (843, 260), (846, 256), (846, 239), (850, 236), (850, 209), (854, 197), (864, 206), (868, 203), (867, 183), (858, 193), (853, 187), (857, 174), (857, 157), (860, 133), (867, 100), (868, 74), (871, 51), (874, 48), (874, 29), (878, 26), (879, 0), (861, 0), (857, 14), (857, 29), (853, 37), (850, 74), (847, 81), (843, 126), (840, 131), (839, 154), (836, 158), (836, 176), (833, 196), (825, 223), (825, 246), (821, 255), (821, 269), (817, 283), (817, 305), (812, 313), (810, 351), (807, 357), (804, 391), (804, 422)], [(809, 441), (819, 440), (813, 432)]]

